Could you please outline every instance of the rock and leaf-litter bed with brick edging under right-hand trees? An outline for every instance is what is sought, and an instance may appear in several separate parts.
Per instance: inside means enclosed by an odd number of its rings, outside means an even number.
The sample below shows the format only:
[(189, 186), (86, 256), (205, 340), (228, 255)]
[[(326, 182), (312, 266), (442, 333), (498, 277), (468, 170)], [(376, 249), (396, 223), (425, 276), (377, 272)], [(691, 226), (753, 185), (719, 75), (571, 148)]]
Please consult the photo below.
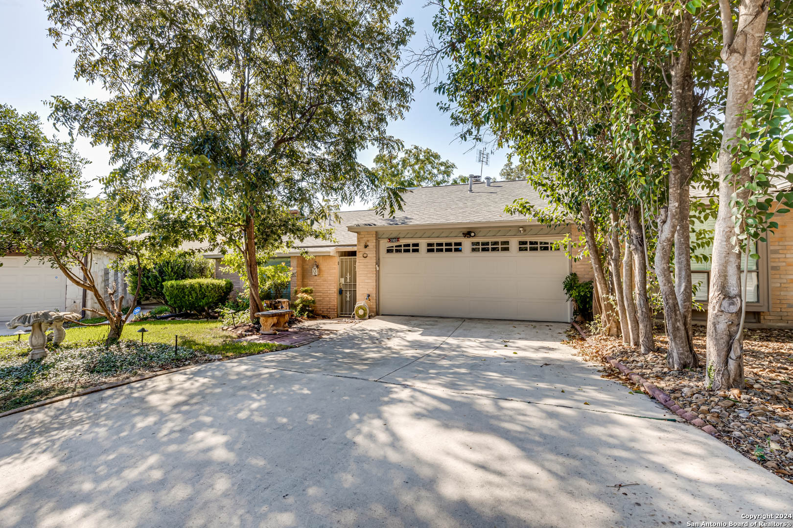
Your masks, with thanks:
[[(590, 336), (586, 341), (574, 330), (569, 336), (568, 344), (584, 359), (605, 363), (605, 355), (613, 356), (668, 393), (686, 411), (711, 424), (723, 443), (793, 484), (793, 330), (747, 329), (746, 388), (718, 391), (704, 389), (703, 327), (694, 330), (694, 348), (702, 366), (695, 370), (668, 369), (662, 329), (655, 338), (658, 350), (649, 355), (613, 337)], [(605, 364), (603, 378), (624, 382), (619, 370)]]

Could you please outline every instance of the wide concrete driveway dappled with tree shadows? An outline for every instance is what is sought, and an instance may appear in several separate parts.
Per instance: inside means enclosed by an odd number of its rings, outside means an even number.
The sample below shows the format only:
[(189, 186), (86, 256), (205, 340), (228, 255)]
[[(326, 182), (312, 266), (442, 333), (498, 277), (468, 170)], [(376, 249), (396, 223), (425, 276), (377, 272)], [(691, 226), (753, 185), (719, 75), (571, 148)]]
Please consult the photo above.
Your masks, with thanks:
[(6, 416), (0, 526), (687, 526), (793, 513), (790, 484), (601, 379), (559, 343), (565, 329), (378, 317)]

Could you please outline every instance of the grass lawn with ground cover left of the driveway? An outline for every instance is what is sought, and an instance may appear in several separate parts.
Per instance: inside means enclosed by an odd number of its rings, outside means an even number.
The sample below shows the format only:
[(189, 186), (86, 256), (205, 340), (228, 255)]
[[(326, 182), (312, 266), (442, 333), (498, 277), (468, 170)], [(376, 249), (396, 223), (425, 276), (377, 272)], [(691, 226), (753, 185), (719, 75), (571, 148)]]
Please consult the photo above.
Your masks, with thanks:
[[(140, 344), (141, 327), (148, 332)], [(29, 361), (26, 336), (0, 337), (0, 412), (79, 389), (174, 367), (289, 348), (272, 343), (234, 343), (218, 321), (142, 321), (125, 325), (118, 344), (105, 346), (108, 327), (67, 329), (59, 348)], [(174, 351), (174, 335), (179, 336)]]

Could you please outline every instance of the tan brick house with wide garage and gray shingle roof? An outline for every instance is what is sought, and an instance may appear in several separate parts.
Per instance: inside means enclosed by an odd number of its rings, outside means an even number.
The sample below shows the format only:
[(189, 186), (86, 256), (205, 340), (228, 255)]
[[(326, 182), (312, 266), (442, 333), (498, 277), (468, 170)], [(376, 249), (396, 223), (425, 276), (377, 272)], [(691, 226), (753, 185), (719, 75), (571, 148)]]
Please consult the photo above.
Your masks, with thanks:
[(519, 197), (546, 205), (525, 180), (414, 188), (394, 218), (342, 212), (334, 242), (297, 244), (309, 258), (278, 256), (291, 260), (293, 289), (312, 287), (328, 317), (366, 302), (370, 314), (569, 321), (561, 283), (592, 268), (552, 242), (577, 230), (505, 213)]

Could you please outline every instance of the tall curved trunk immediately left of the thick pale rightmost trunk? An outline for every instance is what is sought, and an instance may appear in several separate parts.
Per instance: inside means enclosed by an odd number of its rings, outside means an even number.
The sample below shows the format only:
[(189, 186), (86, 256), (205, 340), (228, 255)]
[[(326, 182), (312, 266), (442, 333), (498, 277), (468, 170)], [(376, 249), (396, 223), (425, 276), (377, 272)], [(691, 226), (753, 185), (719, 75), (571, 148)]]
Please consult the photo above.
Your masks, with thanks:
[[(697, 367), (697, 357), (688, 346), (688, 333), (686, 332), (683, 314), (677, 303), (675, 283), (672, 280), (669, 260), (672, 256), (672, 243), (675, 239), (678, 222), (680, 221), (680, 181), (682, 174), (680, 166), (685, 165), (684, 156), (690, 147), (683, 146), (690, 142), (688, 127), (691, 126), (691, 116), (684, 116), (687, 104), (685, 78), (690, 68), (689, 44), (691, 39), (691, 13), (683, 11), (683, 23), (678, 35), (677, 56), (672, 66), (672, 158), (669, 163), (668, 174), (668, 203), (658, 213), (658, 241), (655, 248), (655, 275), (658, 279), (658, 288), (664, 303), (664, 317), (666, 320), (666, 334), (668, 340), (668, 353), (666, 364), (672, 370)], [(688, 125), (687, 125), (688, 123)], [(688, 229), (688, 226), (685, 226)]]

